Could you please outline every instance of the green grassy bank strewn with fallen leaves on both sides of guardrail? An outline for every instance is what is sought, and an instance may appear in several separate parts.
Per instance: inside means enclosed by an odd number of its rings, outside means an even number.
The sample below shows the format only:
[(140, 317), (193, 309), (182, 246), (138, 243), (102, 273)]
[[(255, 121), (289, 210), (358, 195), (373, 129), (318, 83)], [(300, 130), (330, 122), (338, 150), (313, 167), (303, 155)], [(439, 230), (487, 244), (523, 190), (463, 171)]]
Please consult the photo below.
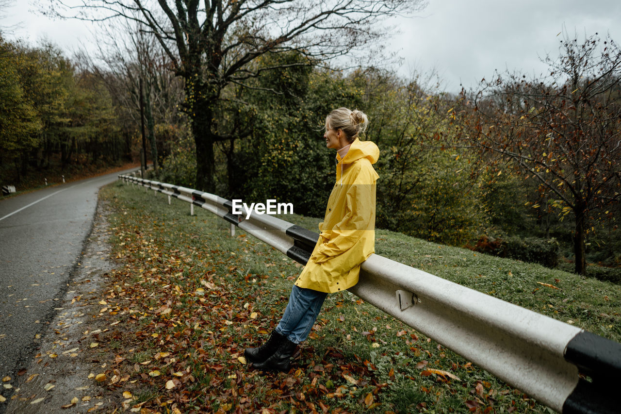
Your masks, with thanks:
[[(243, 349), (275, 326), (301, 266), (240, 229), (230, 237), (229, 226), (207, 211), (189, 216), (187, 203), (168, 206), (159, 193), (116, 183), (101, 198), (114, 210), (109, 223), (119, 260), (103, 298), (111, 321), (120, 323), (100, 346), (117, 354), (107, 378), (115, 392), (134, 395), (128, 407), (550, 411), (348, 292), (329, 296), (291, 372), (250, 370)], [(285, 219), (309, 229), (319, 221)], [(621, 341), (619, 285), (399, 233), (378, 230), (376, 236), (378, 254)]]

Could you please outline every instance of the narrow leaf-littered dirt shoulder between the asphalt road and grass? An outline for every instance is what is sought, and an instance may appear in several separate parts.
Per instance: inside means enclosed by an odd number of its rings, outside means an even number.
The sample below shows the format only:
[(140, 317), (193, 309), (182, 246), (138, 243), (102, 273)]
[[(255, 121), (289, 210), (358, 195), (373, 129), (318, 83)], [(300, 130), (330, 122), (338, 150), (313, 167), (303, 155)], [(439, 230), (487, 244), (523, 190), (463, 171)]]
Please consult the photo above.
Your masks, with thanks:
[(12, 395), (0, 403), (0, 413), (122, 410), (122, 393), (112, 392), (97, 381), (97, 375), (114, 360), (114, 352), (98, 344), (100, 336), (114, 329), (114, 322), (103, 317), (109, 312), (101, 295), (106, 273), (114, 266), (107, 244), (110, 231), (106, 211), (100, 201), (79, 265), (71, 275), (65, 297), (58, 301), (58, 314), (47, 332), (35, 338), (40, 347), (34, 360), (27, 369), (20, 370), (17, 378), (2, 379), (2, 395)]

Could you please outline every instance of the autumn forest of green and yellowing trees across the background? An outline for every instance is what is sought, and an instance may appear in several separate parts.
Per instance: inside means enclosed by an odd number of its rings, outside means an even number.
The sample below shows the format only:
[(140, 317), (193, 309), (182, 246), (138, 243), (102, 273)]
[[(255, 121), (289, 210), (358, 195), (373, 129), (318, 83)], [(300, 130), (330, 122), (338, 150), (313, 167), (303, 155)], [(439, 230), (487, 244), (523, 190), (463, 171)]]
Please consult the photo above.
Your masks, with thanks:
[[(334, 45), (312, 36), (319, 20), (296, 15), (270, 37), (222, 19), (228, 31), (203, 42), (189, 8), (164, 12), (170, 29), (132, 15), (97, 56), (0, 33), (0, 185), (139, 161), (145, 136), (150, 178), (319, 217), (335, 173), (325, 116), (358, 108), (381, 150), (378, 228), (621, 283), (621, 49), (609, 37), (564, 34), (548, 73), (447, 93), (433, 74), (332, 59), (371, 32)], [(301, 32), (307, 44), (291, 43)]]

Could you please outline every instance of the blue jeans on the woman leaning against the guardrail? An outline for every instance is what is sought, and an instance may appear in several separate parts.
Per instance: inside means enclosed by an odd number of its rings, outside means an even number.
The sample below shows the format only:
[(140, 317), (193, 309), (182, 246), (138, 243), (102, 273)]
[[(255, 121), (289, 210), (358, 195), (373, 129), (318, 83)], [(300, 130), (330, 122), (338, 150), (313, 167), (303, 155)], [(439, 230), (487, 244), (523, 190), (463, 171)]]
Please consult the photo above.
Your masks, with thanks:
[(284, 310), (283, 318), (276, 326), (276, 332), (286, 336), (292, 343), (304, 342), (311, 333), (327, 295), (324, 292), (293, 285), (289, 303)]

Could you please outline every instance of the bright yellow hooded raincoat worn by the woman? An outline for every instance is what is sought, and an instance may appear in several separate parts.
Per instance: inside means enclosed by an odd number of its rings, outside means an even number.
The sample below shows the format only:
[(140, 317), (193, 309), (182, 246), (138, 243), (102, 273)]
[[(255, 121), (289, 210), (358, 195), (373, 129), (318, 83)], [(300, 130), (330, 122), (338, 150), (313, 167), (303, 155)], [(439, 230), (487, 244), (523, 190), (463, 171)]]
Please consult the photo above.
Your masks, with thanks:
[(375, 182), (379, 149), (357, 138), (343, 159), (330, 193), (319, 240), (296, 280), (302, 288), (333, 293), (358, 283), (360, 264), (375, 249)]

